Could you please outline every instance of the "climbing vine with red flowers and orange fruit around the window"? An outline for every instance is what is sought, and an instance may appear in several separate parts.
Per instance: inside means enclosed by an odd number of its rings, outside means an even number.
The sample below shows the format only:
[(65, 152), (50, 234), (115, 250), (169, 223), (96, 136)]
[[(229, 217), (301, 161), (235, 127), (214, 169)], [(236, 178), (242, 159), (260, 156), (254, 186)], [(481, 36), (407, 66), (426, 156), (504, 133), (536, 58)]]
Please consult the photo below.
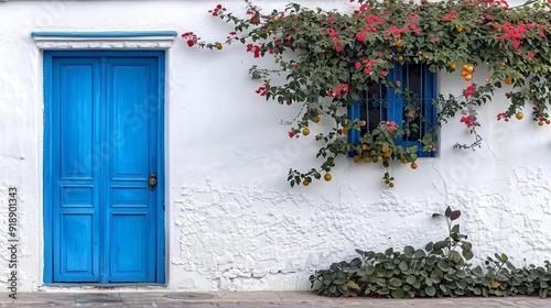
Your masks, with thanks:
[[(477, 133), (477, 108), (490, 101), (497, 88), (506, 89), (503, 99), (509, 101), (497, 120), (520, 120), (523, 110), (531, 109), (531, 118), (539, 125), (550, 123), (551, 0), (532, 0), (518, 7), (509, 7), (505, 0), (360, 0), (350, 3), (349, 11), (290, 3), (270, 12), (246, 2), (242, 15), (222, 4), (209, 11), (233, 24), (225, 41), (205, 42), (193, 32), (182, 36), (190, 47), (223, 50), (225, 44), (241, 43), (256, 58), (272, 57), (278, 69), (253, 66), (250, 74), (263, 80), (258, 95), (281, 105), (301, 105), (290, 138), (309, 136), (310, 125), (331, 120), (331, 129), (314, 136), (323, 144), (316, 155), (323, 163), (306, 172), (290, 169), (291, 186), (307, 186), (322, 174), (331, 180), (335, 158), (349, 155), (355, 163), (381, 163), (387, 169), (383, 182), (392, 187), (395, 179), (388, 173), (391, 161), (417, 168), (419, 153), (418, 145), (403, 146), (397, 140), (418, 132), (419, 123), (429, 123), (420, 146), (434, 152), (439, 128), (456, 116), (474, 141), (455, 147), (474, 150), (483, 142)], [(458, 80), (465, 80), (464, 90), (457, 96), (440, 94), (433, 100), (437, 116), (431, 122), (411, 102), (411, 91), (404, 85), (388, 80), (396, 63), (421, 63), (431, 72), (456, 72)], [(484, 84), (477, 85), (473, 76), (480, 64), (487, 67), (484, 74), (489, 74)], [(273, 81), (276, 75), (287, 81)], [(350, 119), (348, 108), (374, 81), (401, 97), (407, 117), (402, 123), (381, 121), (359, 136), (359, 142), (352, 142), (348, 134), (361, 130), (366, 122)]]

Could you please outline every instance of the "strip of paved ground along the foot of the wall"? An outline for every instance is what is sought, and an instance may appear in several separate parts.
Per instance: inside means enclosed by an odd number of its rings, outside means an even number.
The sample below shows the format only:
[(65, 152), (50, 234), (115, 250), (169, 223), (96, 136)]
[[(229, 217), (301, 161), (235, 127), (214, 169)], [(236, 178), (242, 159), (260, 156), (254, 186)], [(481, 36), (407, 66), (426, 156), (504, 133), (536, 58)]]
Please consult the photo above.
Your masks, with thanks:
[(551, 298), (509, 297), (509, 298), (446, 298), (446, 299), (372, 299), (372, 298), (326, 298), (310, 292), (217, 292), (217, 293), (168, 293), (168, 292), (108, 292), (93, 293), (20, 293), (12, 301), (9, 294), (0, 293), (0, 307), (184, 307), (184, 308), (215, 308), (215, 307), (551, 307)]

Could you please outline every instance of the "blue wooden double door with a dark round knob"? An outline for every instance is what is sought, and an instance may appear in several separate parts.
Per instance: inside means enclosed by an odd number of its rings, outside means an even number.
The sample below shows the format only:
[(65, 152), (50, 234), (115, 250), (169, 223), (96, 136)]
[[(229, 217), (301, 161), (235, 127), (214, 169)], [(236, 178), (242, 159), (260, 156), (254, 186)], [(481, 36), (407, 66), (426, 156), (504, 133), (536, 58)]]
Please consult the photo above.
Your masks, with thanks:
[(46, 54), (46, 283), (164, 283), (163, 59)]

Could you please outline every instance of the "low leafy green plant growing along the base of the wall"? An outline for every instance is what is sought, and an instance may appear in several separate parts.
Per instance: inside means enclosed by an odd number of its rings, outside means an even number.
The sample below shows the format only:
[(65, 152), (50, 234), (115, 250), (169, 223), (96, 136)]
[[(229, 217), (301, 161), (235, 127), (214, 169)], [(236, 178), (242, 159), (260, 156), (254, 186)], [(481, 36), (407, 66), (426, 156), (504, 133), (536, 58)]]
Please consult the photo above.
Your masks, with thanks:
[[(487, 257), (486, 267), (472, 267), (471, 243), (461, 234), (458, 210), (446, 208), (447, 237), (429, 243), (424, 250), (406, 246), (402, 252), (356, 250), (359, 257), (334, 263), (328, 270), (310, 276), (318, 295), (332, 297), (371, 296), (389, 298), (456, 296), (548, 296), (551, 289), (551, 263), (544, 266), (515, 267), (506, 254)], [(456, 227), (457, 226), (457, 227)], [(462, 250), (460, 254), (456, 249)]]

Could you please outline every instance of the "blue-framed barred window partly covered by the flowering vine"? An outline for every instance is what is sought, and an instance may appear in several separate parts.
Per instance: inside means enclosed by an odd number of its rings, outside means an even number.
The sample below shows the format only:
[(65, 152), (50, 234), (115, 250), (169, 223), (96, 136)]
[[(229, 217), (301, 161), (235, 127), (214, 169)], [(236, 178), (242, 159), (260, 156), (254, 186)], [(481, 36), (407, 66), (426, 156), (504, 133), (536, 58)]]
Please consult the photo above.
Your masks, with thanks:
[(361, 99), (350, 106), (348, 116), (352, 120), (366, 121), (360, 131), (350, 130), (348, 140), (359, 144), (359, 138), (377, 128), (381, 121), (395, 121), (400, 129), (407, 121), (409, 107), (418, 108), (422, 117), (417, 117), (417, 131), (400, 136), (397, 144), (404, 147), (418, 145), (419, 157), (432, 157), (434, 152), (423, 152), (421, 139), (429, 132), (436, 120), (436, 109), (433, 101), (437, 99), (436, 74), (429, 70), (429, 66), (418, 63), (396, 63), (395, 68), (388, 74), (387, 80), (399, 81), (400, 89), (409, 89), (407, 99), (401, 91), (396, 94), (393, 88), (376, 81), (370, 81)]

